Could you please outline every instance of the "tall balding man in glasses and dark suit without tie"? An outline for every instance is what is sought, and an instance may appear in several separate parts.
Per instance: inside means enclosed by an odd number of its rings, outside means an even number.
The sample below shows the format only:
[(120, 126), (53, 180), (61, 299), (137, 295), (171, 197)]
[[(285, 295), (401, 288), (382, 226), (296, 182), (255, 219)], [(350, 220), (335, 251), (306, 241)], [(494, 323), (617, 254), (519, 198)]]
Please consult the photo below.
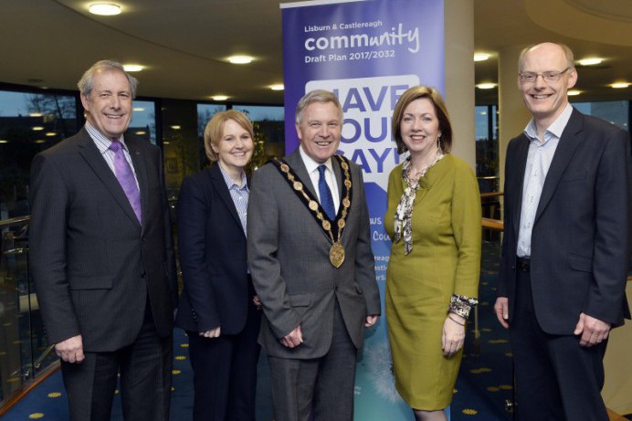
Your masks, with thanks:
[(629, 318), (628, 134), (568, 103), (577, 81), (568, 47), (525, 48), (519, 68), (533, 118), (507, 148), (494, 306), (511, 333), (517, 416), (606, 421), (608, 332)]

